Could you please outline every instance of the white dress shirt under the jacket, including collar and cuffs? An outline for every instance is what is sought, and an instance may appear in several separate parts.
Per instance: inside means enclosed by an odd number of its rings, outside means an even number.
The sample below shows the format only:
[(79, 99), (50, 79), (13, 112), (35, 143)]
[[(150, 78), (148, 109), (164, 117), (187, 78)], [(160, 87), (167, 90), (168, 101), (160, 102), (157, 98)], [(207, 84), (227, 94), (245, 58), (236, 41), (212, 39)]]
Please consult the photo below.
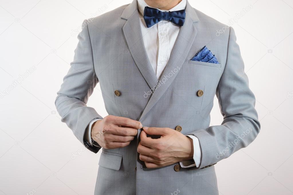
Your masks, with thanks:
[[(142, 31), (144, 47), (147, 51), (147, 56), (151, 63), (151, 66), (154, 69), (154, 72), (159, 79), (163, 70), (165, 69), (167, 62), (170, 58), (171, 51), (177, 39), (180, 26), (168, 21), (168, 20), (161, 20), (160, 22), (156, 23), (152, 27), (147, 27), (143, 14), (144, 8), (148, 6), (144, 0), (137, 0), (137, 7), (139, 11), (140, 17), (140, 28)], [(148, 6), (150, 7), (150, 6)], [(168, 11), (178, 11), (183, 10), (186, 7), (186, 0), (180, 1), (175, 7), (171, 8)], [(161, 10), (166, 11), (166, 10)], [(91, 127), (94, 122), (99, 119), (94, 119), (89, 124), (88, 128), (86, 129), (86, 138), (90, 144), (92, 144), (91, 140)], [(197, 137), (194, 135), (187, 135), (193, 140), (193, 161), (187, 160), (180, 162), (180, 166), (183, 168), (188, 167), (199, 167), (200, 159), (201, 159), (201, 150), (200, 150), (200, 143)]]

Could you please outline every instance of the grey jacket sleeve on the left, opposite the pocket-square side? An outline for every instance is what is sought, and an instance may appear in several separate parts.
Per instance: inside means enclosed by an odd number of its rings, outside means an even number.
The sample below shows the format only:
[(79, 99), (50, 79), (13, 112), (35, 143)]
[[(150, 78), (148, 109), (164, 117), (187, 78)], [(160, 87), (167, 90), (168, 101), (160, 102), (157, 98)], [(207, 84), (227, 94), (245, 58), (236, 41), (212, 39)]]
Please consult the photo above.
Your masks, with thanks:
[(87, 20), (82, 24), (82, 31), (77, 36), (79, 42), (74, 51), (74, 60), (57, 92), (55, 105), (62, 117), (61, 121), (73, 131), (77, 139), (92, 152), (97, 153), (100, 147), (91, 146), (84, 134), (93, 119), (103, 119), (95, 109), (87, 107), (88, 97), (98, 83), (94, 71), (91, 41), (88, 33)]

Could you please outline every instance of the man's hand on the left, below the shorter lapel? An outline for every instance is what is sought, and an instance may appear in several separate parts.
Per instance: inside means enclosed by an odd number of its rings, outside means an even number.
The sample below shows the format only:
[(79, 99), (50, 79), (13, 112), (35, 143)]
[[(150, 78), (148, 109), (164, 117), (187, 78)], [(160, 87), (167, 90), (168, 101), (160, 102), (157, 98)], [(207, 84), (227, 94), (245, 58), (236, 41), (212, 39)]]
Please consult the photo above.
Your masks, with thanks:
[(140, 128), (142, 123), (139, 121), (108, 115), (93, 124), (91, 137), (105, 149), (121, 148), (130, 144)]

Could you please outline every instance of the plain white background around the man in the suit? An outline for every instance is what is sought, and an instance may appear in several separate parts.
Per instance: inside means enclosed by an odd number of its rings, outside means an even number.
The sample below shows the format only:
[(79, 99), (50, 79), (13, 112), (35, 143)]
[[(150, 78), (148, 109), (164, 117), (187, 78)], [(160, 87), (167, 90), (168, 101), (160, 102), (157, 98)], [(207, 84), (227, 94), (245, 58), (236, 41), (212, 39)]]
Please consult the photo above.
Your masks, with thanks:
[[(93, 194), (100, 154), (84, 151), (61, 123), (54, 100), (83, 20), (130, 2), (0, 1), (0, 195)], [(256, 96), (261, 132), (247, 148), (217, 163), (219, 193), (293, 194), (293, 2), (190, 4), (225, 24), (252, 6), (231, 26)], [(17, 79), (21, 83), (13, 86)], [(88, 106), (107, 115), (99, 85)], [(211, 118), (211, 125), (222, 122), (217, 98)]]

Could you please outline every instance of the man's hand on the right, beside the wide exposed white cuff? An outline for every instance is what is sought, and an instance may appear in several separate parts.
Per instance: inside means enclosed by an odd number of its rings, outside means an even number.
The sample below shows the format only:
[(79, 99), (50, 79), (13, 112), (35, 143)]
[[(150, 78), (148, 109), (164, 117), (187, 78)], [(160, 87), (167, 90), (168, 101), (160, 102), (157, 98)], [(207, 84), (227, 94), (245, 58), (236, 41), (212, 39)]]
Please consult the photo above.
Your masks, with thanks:
[[(147, 135), (161, 137), (152, 139)], [(164, 167), (193, 159), (193, 140), (171, 128), (144, 127), (137, 152), (147, 168)]]

